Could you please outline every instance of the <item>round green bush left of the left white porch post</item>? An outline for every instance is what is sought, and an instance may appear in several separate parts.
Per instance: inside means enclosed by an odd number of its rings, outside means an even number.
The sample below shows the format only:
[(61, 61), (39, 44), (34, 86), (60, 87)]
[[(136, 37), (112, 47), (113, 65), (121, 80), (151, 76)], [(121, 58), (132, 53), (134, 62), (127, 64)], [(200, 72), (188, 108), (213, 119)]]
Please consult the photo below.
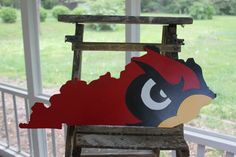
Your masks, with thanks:
[(16, 9), (10, 7), (4, 7), (1, 10), (1, 18), (4, 23), (14, 23), (16, 22)]

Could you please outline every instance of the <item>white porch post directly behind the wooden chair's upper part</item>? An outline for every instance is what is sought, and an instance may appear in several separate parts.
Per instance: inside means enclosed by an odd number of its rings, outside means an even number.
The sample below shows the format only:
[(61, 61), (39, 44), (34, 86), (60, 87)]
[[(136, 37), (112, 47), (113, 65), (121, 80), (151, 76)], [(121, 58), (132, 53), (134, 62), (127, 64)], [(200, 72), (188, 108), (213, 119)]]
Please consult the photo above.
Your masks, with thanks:
[[(140, 16), (141, 0), (126, 0), (125, 1), (125, 15), (126, 16)], [(125, 25), (125, 39), (126, 42), (140, 42), (140, 25), (126, 24)], [(131, 57), (139, 56), (138, 52), (127, 52), (125, 55), (126, 64), (130, 62)]]

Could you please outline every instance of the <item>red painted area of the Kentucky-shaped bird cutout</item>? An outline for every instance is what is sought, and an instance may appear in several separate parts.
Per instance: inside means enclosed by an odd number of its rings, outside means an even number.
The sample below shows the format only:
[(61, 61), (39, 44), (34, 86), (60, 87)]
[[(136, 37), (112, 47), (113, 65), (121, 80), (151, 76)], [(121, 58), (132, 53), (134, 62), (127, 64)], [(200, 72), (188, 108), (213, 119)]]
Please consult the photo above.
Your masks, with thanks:
[(135, 62), (145, 63), (155, 69), (171, 85), (184, 80), (183, 91), (200, 89), (198, 76), (188, 66), (160, 55), (151, 49), (132, 62), (121, 72), (120, 78), (106, 73), (98, 80), (86, 83), (71, 80), (64, 84), (60, 93), (50, 98), (50, 107), (36, 103), (28, 124), (21, 128), (61, 128), (68, 125), (127, 125), (141, 123), (142, 120), (129, 111), (126, 91), (134, 79), (145, 74)]

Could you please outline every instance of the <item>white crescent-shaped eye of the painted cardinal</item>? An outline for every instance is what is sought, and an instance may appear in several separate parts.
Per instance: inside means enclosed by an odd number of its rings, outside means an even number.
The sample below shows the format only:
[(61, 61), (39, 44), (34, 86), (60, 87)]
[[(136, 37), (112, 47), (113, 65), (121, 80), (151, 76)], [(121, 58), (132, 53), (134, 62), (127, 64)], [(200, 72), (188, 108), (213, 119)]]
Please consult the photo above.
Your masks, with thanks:
[(141, 91), (141, 98), (143, 103), (151, 110), (163, 110), (168, 105), (170, 105), (171, 100), (168, 98), (166, 93), (160, 89), (160, 92), (158, 93), (162, 98), (164, 98), (164, 101), (162, 102), (156, 102), (151, 98), (151, 89), (156, 85), (156, 82), (153, 81), (153, 79), (147, 80), (147, 82), (144, 84), (142, 91)]

